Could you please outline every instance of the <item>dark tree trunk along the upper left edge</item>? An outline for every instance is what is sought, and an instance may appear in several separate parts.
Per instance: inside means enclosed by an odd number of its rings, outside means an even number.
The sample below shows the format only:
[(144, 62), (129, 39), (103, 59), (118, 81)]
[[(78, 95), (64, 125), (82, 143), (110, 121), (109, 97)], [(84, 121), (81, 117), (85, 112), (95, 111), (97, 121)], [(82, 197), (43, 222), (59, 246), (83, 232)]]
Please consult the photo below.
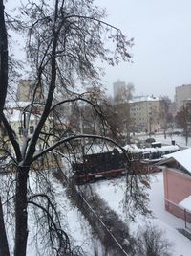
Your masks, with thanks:
[(4, 18), (4, 4), (0, 0), (0, 121), (8, 88), (8, 39)]

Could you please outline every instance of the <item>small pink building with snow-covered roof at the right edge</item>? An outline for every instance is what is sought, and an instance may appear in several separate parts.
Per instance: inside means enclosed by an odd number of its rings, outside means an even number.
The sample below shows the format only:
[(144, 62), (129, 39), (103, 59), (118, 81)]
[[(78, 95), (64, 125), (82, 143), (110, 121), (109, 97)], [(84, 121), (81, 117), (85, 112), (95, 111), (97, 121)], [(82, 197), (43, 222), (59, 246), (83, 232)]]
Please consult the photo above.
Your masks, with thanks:
[(163, 169), (165, 209), (191, 222), (191, 149), (174, 152), (164, 157)]

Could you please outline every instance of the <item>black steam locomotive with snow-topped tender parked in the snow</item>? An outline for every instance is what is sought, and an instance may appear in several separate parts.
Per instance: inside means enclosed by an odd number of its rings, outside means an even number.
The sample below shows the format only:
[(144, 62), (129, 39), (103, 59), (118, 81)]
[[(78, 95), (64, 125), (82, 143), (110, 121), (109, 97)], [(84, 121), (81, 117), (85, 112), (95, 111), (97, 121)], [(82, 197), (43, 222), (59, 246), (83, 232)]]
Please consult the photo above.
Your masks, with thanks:
[(117, 149), (84, 155), (80, 162), (73, 163), (74, 179), (76, 184), (80, 185), (100, 179), (116, 178), (127, 175), (128, 172), (129, 175), (159, 172), (155, 164), (163, 154), (174, 151), (179, 151), (177, 145), (139, 149), (137, 152), (128, 151), (126, 155)]

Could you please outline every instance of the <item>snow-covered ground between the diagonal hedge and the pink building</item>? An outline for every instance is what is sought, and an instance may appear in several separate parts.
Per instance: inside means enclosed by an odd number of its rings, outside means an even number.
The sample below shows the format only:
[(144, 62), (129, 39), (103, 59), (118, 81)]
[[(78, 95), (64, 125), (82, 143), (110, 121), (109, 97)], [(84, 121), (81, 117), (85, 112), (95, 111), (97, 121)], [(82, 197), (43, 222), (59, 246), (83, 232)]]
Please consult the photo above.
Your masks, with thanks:
[[(95, 184), (97, 193), (104, 198), (109, 206), (114, 209), (121, 218), (126, 221), (125, 213), (121, 205), (124, 196), (125, 180), (117, 179), (114, 186), (110, 181), (102, 181)], [(156, 225), (165, 231), (166, 238), (173, 243), (173, 256), (190, 256), (191, 241), (184, 237), (177, 228), (184, 228), (184, 221), (166, 212), (164, 209), (163, 175), (162, 173), (152, 175), (151, 190), (149, 190), (150, 209), (154, 218), (138, 216), (134, 224), (130, 224), (131, 230), (136, 232), (138, 227), (146, 224)], [(127, 219), (128, 220), (128, 219)]]

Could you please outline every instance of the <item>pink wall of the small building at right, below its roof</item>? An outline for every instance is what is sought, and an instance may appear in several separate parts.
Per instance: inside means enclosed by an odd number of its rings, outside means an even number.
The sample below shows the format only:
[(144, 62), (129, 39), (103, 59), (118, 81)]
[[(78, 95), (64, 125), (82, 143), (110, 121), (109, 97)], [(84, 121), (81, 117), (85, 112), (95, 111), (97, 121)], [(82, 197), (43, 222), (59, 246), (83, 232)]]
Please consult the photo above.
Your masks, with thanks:
[[(180, 171), (163, 170), (164, 175), (164, 198), (165, 209), (172, 214), (184, 219), (184, 210), (178, 204), (184, 198), (191, 195), (191, 176), (180, 173)], [(191, 221), (191, 215), (186, 213), (187, 221)]]

